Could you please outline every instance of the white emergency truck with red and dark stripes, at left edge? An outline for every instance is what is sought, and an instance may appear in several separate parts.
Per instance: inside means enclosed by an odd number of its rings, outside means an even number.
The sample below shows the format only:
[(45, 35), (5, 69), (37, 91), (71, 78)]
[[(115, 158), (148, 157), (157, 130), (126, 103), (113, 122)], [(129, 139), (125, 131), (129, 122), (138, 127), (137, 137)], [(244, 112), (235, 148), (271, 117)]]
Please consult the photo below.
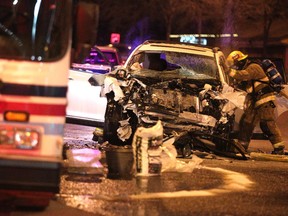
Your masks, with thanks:
[(59, 191), (72, 0), (0, 1), (0, 202)]

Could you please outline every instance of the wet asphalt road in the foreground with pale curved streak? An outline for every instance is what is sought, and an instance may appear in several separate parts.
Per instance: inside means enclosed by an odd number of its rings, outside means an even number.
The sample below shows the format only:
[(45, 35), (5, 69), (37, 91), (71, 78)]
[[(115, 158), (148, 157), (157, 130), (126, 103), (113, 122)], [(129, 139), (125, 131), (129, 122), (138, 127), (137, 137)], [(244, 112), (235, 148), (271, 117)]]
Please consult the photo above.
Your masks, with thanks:
[[(65, 142), (95, 148), (93, 130), (67, 124)], [(271, 151), (266, 141), (251, 143), (252, 151), (258, 148)], [(262, 155), (247, 161), (198, 155), (184, 160), (191, 162), (191, 172), (131, 180), (108, 179), (105, 169), (104, 175), (72, 173), (66, 166), (60, 194), (45, 211), (11, 215), (287, 215), (288, 156)]]

